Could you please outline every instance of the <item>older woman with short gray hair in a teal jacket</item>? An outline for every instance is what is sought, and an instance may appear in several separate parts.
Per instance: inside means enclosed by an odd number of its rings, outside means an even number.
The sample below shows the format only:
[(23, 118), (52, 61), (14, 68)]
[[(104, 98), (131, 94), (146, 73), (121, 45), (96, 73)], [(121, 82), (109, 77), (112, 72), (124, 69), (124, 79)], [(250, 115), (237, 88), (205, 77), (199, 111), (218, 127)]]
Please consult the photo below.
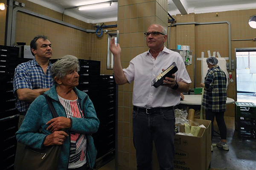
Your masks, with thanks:
[[(67, 55), (51, 67), (54, 85), (45, 92), (58, 113), (52, 114), (44, 96), (38, 96), (29, 107), (16, 133), (17, 141), (36, 149), (62, 145), (58, 170), (86, 170), (93, 168), (97, 151), (92, 133), (99, 127), (99, 119), (88, 95), (79, 91), (79, 61)], [(61, 131), (61, 129), (67, 131)], [(41, 133), (39, 133), (39, 131)]]

